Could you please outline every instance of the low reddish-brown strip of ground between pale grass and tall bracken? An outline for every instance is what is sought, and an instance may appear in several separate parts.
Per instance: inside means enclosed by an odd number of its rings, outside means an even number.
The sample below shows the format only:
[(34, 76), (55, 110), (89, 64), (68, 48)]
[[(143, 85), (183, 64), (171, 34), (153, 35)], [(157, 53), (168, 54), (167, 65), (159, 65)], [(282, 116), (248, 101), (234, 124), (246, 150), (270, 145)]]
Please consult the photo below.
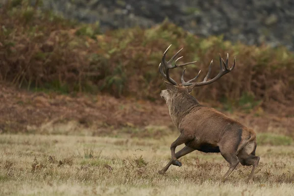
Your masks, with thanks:
[[(160, 138), (176, 131), (165, 103), (107, 95), (32, 93), (0, 84), (0, 131)], [(203, 103), (216, 107), (215, 104)], [(217, 107), (216, 107), (217, 108)], [(257, 132), (293, 137), (294, 117), (222, 111)]]

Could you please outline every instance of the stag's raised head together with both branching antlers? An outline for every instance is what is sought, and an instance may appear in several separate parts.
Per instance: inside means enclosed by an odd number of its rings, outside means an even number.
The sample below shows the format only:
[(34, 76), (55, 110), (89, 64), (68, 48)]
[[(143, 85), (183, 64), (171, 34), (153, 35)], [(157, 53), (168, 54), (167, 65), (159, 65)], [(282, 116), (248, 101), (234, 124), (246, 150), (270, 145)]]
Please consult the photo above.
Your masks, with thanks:
[[(176, 64), (176, 62), (181, 59), (183, 56), (177, 58), (175, 61), (174, 59), (176, 58), (176, 56), (180, 53), (180, 51), (183, 49), (180, 49), (178, 52), (176, 52), (172, 58), (169, 60), (169, 61), (166, 61), (166, 54), (168, 52), (168, 50), (170, 49), (172, 45), (170, 45), (166, 51), (163, 53), (163, 56), (162, 56), (162, 59), (161, 59), (161, 63), (159, 64), (159, 73), (161, 73), (161, 75), (167, 80), (167, 81), (164, 81), (165, 82), (165, 85), (167, 87), (166, 90), (163, 90), (161, 91), (160, 93), (160, 96), (162, 98), (164, 98), (167, 103), (170, 102), (170, 100), (177, 94), (190, 94), (192, 91), (193, 91), (193, 88), (196, 87), (196, 86), (204, 86), (204, 85), (207, 85), (207, 84), (211, 84), (215, 81), (217, 81), (218, 79), (221, 78), (221, 76), (225, 75), (226, 73), (229, 73), (231, 72), (235, 65), (236, 65), (236, 57), (234, 58), (234, 64), (231, 68), (228, 67), (228, 62), (229, 62), (229, 54), (227, 53), (227, 58), (226, 58), (226, 61), (224, 61), (222, 58), (221, 58), (221, 54), (220, 54), (220, 72), (218, 73), (217, 76), (215, 76), (214, 78), (210, 79), (210, 80), (207, 80), (209, 77), (210, 77), (210, 73), (211, 73), (211, 69), (212, 69), (212, 65), (213, 65), (213, 60), (210, 62), (209, 64), (209, 68), (208, 68), (208, 72), (205, 76), (205, 78), (203, 79), (202, 82), (193, 82), (195, 81), (201, 70), (199, 71), (199, 73), (191, 80), (185, 82), (184, 80), (184, 74), (185, 74), (185, 71), (186, 71), (186, 68), (183, 70), (183, 73), (182, 73), (182, 76), (181, 76), (181, 84), (177, 84), (171, 77), (170, 77), (170, 73), (169, 73), (169, 70), (172, 70), (174, 68), (178, 68), (178, 67), (183, 67), (183, 66), (186, 66), (186, 65), (190, 65), (190, 64), (193, 64), (193, 63), (196, 63), (196, 61), (193, 61), (193, 62), (189, 62), (189, 63), (184, 63), (184, 64)], [(174, 61), (174, 65), (172, 65), (172, 62)], [(165, 73), (164, 73), (165, 71)]]

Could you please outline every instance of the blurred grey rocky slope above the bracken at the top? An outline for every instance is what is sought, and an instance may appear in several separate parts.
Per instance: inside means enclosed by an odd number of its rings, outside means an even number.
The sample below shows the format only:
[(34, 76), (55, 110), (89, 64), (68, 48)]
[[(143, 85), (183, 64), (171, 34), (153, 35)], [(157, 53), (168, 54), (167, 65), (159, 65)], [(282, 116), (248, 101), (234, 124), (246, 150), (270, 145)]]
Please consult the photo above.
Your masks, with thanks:
[(293, 0), (43, 0), (43, 7), (101, 30), (150, 27), (165, 18), (199, 36), (294, 50)]

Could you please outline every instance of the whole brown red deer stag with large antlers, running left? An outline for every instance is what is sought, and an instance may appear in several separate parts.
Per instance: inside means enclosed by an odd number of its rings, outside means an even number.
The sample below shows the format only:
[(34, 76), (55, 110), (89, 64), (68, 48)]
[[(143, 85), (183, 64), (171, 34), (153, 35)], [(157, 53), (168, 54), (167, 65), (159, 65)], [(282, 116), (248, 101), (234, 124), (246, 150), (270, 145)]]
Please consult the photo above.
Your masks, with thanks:
[[(178, 158), (194, 150), (199, 150), (206, 153), (221, 152), (223, 158), (230, 164), (230, 168), (222, 177), (222, 181), (233, 172), (239, 162), (243, 166), (252, 165), (252, 171), (248, 177), (248, 181), (251, 181), (260, 159), (260, 157), (255, 156), (255, 132), (216, 109), (199, 104), (197, 99), (190, 95), (194, 87), (211, 84), (224, 74), (232, 71), (236, 64), (236, 58), (233, 66), (229, 68), (229, 55), (227, 54), (226, 61), (224, 61), (220, 54), (220, 72), (216, 77), (208, 80), (213, 65), (213, 61), (211, 61), (208, 73), (202, 82), (193, 82), (200, 72), (195, 78), (185, 82), (185, 68), (181, 76), (181, 84), (177, 84), (170, 77), (169, 70), (193, 64), (196, 61), (177, 65), (176, 62), (182, 58), (179, 57), (172, 65), (182, 49), (174, 54), (169, 61), (166, 61), (169, 48), (163, 53), (159, 64), (159, 72), (167, 80), (164, 81), (167, 89), (161, 91), (160, 96), (166, 100), (172, 122), (180, 131), (180, 136), (171, 145), (172, 159), (159, 173), (165, 173), (171, 165), (181, 167), (182, 164), (177, 160)], [(185, 147), (175, 153), (175, 148), (182, 144), (185, 144)]]

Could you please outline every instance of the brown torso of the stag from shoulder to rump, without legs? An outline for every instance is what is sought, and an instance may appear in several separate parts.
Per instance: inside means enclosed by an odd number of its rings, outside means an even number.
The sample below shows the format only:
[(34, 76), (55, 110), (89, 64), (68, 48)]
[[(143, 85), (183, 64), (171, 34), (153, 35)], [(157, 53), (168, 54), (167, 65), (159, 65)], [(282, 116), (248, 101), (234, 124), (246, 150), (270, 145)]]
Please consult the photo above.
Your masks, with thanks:
[(222, 147), (236, 155), (241, 151), (255, 155), (255, 134), (213, 108), (199, 106), (192, 110), (179, 123), (179, 129), (181, 133), (195, 136), (185, 145), (198, 151), (219, 153)]

